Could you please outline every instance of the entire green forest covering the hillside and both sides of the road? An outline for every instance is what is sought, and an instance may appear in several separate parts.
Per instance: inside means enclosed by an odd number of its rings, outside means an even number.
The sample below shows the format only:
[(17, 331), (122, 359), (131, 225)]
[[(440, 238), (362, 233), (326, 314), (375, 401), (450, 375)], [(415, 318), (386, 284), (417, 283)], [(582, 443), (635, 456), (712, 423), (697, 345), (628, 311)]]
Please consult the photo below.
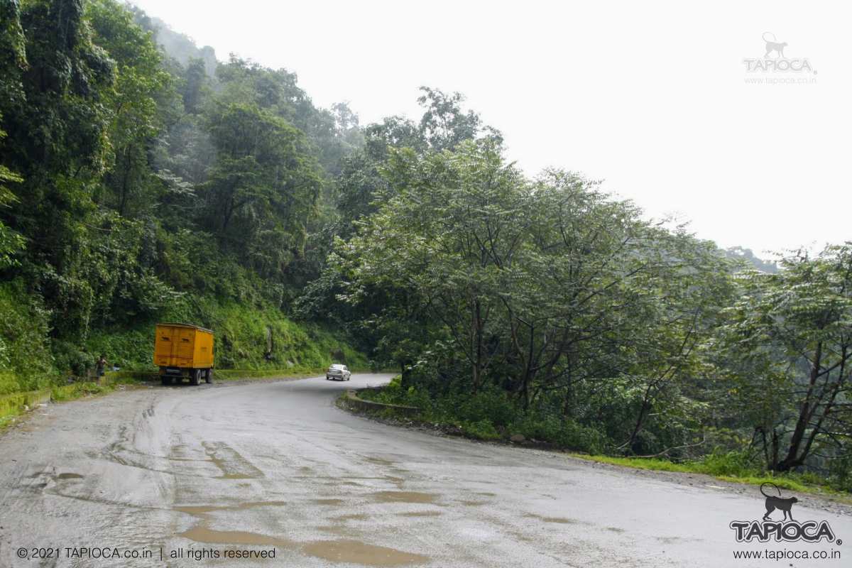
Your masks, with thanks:
[(0, 0), (0, 394), (181, 318), (222, 367), (364, 353), (485, 436), (849, 489), (852, 246), (718, 250), (418, 102), (362, 125), (114, 0)]

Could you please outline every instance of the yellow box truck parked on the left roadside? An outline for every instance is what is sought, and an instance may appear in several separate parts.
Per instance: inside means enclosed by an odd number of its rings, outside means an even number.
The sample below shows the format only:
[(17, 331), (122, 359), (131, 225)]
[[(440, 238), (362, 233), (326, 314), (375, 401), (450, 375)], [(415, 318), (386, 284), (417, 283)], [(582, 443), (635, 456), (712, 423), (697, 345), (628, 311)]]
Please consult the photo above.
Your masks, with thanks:
[(190, 384), (213, 382), (213, 332), (198, 325), (157, 324), (154, 364), (164, 385), (188, 377)]

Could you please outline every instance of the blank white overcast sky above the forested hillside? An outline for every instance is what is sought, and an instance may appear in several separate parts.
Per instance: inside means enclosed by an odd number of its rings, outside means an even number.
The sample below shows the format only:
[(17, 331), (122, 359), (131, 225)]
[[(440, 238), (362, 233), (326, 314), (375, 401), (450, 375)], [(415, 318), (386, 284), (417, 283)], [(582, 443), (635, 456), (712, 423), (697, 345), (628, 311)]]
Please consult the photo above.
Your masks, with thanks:
[[(530, 174), (602, 179), (722, 246), (852, 239), (848, 3), (134, 3), (220, 60), (296, 72), (315, 104), (346, 100), (361, 123), (417, 118), (420, 85), (460, 91)], [(763, 32), (816, 74), (747, 73)]]

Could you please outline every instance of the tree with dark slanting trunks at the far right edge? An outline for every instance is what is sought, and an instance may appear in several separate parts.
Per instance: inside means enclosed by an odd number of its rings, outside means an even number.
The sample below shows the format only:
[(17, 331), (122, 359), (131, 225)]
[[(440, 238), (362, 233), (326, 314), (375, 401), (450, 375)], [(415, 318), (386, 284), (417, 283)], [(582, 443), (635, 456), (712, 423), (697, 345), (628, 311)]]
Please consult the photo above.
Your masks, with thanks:
[[(787, 256), (779, 273), (751, 271), (741, 280), (743, 295), (726, 328), (732, 367), (744, 383), (736, 392), (768, 396), (790, 409), (755, 416), (768, 467), (788, 471), (817, 448), (848, 447), (852, 244), (827, 247), (815, 257)], [(768, 392), (754, 393), (751, 382)]]

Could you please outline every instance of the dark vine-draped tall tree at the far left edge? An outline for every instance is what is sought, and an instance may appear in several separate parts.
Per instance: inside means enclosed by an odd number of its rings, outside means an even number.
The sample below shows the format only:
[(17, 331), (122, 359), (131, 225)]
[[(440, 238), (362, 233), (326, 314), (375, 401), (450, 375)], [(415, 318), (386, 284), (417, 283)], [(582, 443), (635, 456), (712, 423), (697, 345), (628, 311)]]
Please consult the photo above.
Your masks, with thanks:
[[(4, 25), (6, 21), (4, 20)], [(88, 326), (94, 295), (86, 276), (96, 182), (107, 167), (110, 112), (105, 90), (115, 64), (95, 45), (79, 0), (33, 0), (20, 9), (26, 70), (22, 97), (0, 101), (9, 139), (9, 225), (26, 238), (20, 271), (53, 310), (55, 333)], [(24, 102), (26, 100), (26, 102)]]

